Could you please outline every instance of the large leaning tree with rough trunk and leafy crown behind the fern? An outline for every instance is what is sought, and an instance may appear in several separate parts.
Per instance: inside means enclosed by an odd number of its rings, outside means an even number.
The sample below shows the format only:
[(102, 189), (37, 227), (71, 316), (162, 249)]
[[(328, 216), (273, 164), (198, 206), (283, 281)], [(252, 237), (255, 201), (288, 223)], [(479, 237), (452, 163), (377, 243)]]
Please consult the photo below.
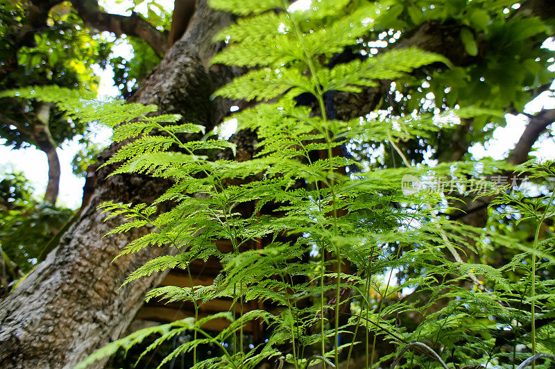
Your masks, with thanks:
[[(76, 8), (79, 8), (78, 3), (74, 1)], [(383, 103), (390, 105), (390, 112), (410, 112), (411, 108), (418, 105), (418, 97), (430, 92), (429, 88), (434, 90), (437, 108), (483, 101), (488, 108), (512, 108), (518, 111), (535, 91), (545, 88), (543, 86), (549, 83), (551, 77), (540, 74), (543, 66), (528, 62), (540, 58), (540, 62), (545, 65), (549, 58), (547, 51), (538, 51), (537, 48), (548, 29), (544, 22), (532, 17), (540, 15), (548, 19), (546, 22), (552, 22), (549, 19), (555, 14), (554, 7), (547, 1), (524, 2), (518, 11), (507, 10), (509, 15), (504, 15), (502, 5), (486, 6), (485, 2), (477, 6), (468, 6), (466, 1), (450, 2), (441, 10), (425, 2), (424, 5), (428, 7), (424, 12), (420, 12), (421, 5), (404, 6), (402, 2), (392, 1), (387, 9), (391, 18), (372, 31), (369, 39), (383, 32), (387, 35), (390, 29), (403, 30), (396, 39), (393, 37), (395, 33), (389, 35), (395, 41), (387, 47), (418, 46), (427, 51), (443, 53), (458, 67), (447, 71), (441, 67), (418, 71), (407, 80), (398, 81), (397, 84), (402, 87), (396, 92), (392, 89), (391, 81), (384, 80), (380, 81), (379, 87), (366, 89), (363, 99), (355, 100), (350, 94), (334, 94), (332, 98), (337, 114), (357, 117), (375, 110)], [(108, 28), (107, 24), (111, 23), (105, 19), (110, 19), (110, 16), (99, 15), (97, 11), (95, 17), (87, 18), (99, 19), (99, 23), (94, 24), (97, 28)], [(119, 22), (131, 22), (130, 17), (112, 19), (114, 22), (118, 19)], [(205, 2), (200, 1), (189, 31), (166, 53), (160, 65), (142, 81), (129, 100), (143, 104), (154, 103), (162, 112), (178, 112), (187, 121), (203, 124), (207, 131), (221, 122), (231, 105), (243, 106), (245, 103), (242, 101), (210, 99), (216, 87), (242, 72), (220, 65), (207, 67), (214, 53), (225, 46), (223, 43), (212, 43), (212, 37), (230, 20), (230, 15), (211, 10)], [(508, 31), (512, 31), (513, 35), (507, 35)], [(127, 32), (139, 35), (137, 28), (129, 28)], [(150, 31), (148, 36), (141, 33), (145, 38), (152, 34)], [(498, 47), (494, 49), (493, 46)], [(378, 52), (377, 47), (370, 49)], [(512, 50), (511, 53), (507, 53), (508, 50)], [(370, 50), (370, 53), (373, 52)], [(514, 60), (511, 61), (515, 67), (508, 69), (499, 65), (500, 55), (513, 55)], [(494, 68), (495, 65), (497, 68)], [(524, 69), (523, 65), (528, 69)], [(509, 78), (509, 70), (518, 76)], [(485, 76), (484, 81), (480, 80), (482, 76)], [(429, 81), (428, 87), (423, 87), (424, 80)], [(486, 85), (481, 82), (486, 82)], [(446, 85), (451, 87), (448, 92), (445, 92)], [(400, 98), (395, 98), (395, 94), (397, 97), (400, 95)], [(408, 95), (418, 97), (411, 99)], [(434, 105), (427, 105), (427, 108), (422, 109), (433, 108)], [(531, 117), (531, 123), (517, 145), (519, 150), (513, 152), (515, 162), (522, 162), (526, 158), (533, 143), (552, 123), (551, 119), (550, 112)], [(462, 127), (459, 132), (447, 132), (455, 135), (455, 139), (445, 142), (442, 137), (441, 143), (433, 140), (428, 142), (429, 146), (438, 147), (436, 155), (442, 160), (460, 159), (466, 155), (472, 143), (487, 139), (495, 126), (487, 126), (485, 121), (469, 121)], [(460, 139), (456, 139), (456, 135)], [(232, 139), (238, 145), (239, 160), (252, 155), (253, 137), (237, 135)], [(100, 160), (107, 160), (119, 146), (110, 146), (101, 154)], [(414, 141), (408, 141), (400, 148), (401, 153), (409, 153), (411, 159), (416, 161), (421, 159), (422, 151), (425, 150)], [(355, 151), (355, 155), (364, 157), (368, 152)], [(449, 158), (443, 159), (445, 156)], [(395, 155), (395, 159), (393, 157), (392, 151), (391, 155), (385, 156), (383, 164), (391, 166), (395, 160), (400, 160), (398, 155)], [(105, 200), (148, 202), (160, 195), (168, 184), (139, 175), (118, 175), (105, 179), (108, 171), (110, 168), (99, 172), (91, 205), (83, 210), (76, 223), (61, 237), (60, 246), (1, 302), (0, 358), (3, 362), (14, 367), (71, 366), (94, 348), (121, 336), (141, 306), (144, 291), (155, 286), (162, 278), (162, 275), (152, 275), (142, 279), (140, 284), (127, 284), (118, 290), (130, 272), (144, 264), (144, 261), (166, 251), (162, 248), (145, 250), (139, 257), (123, 257), (110, 264), (110, 260), (128, 241), (147, 231), (137, 230), (121, 237), (101, 239), (103, 234), (113, 228), (114, 223), (102, 223), (103, 217), (96, 206)], [(37, 336), (43, 339), (39, 340)]]

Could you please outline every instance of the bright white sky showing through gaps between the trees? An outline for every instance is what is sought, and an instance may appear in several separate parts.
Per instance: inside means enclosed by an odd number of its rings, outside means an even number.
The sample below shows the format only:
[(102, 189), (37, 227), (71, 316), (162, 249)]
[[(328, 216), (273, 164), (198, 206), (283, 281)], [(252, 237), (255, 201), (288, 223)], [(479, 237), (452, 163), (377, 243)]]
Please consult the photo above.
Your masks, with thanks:
[[(164, 7), (171, 9), (173, 7), (173, 0), (158, 0)], [(293, 3), (290, 10), (300, 10), (307, 8), (307, 0), (299, 0)], [(108, 12), (117, 13), (121, 15), (129, 15), (126, 9), (130, 8), (133, 1), (123, 0), (122, 3), (115, 4), (114, 1), (101, 1), (101, 4)], [(142, 3), (136, 8), (137, 11), (146, 12), (146, 2)], [(549, 49), (555, 49), (555, 42), (550, 40), (545, 44)], [(123, 58), (130, 58), (133, 55), (133, 48), (125, 42), (119, 42), (117, 46), (112, 49), (114, 56), (122, 56)], [(552, 66), (553, 68), (553, 66)], [(117, 96), (119, 94), (117, 87), (113, 85), (113, 71), (109, 67), (101, 69), (95, 67), (94, 71), (100, 76), (99, 85), (99, 98), (105, 96)], [(552, 88), (554, 86), (552, 85)], [(531, 101), (524, 112), (533, 114), (540, 111), (542, 108), (555, 108), (555, 97), (552, 92), (543, 92), (538, 98)], [(493, 134), (493, 139), (486, 143), (475, 144), (470, 148), (470, 153), (479, 160), (482, 157), (491, 156), (495, 160), (501, 160), (509, 153), (518, 141), (520, 135), (524, 131), (527, 123), (527, 118), (524, 115), (513, 116), (507, 114), (507, 124), (505, 127), (499, 127)], [(551, 128), (554, 130), (554, 128)], [(555, 132), (554, 132), (555, 134)], [(99, 125), (92, 126), (90, 138), (99, 144), (108, 145), (110, 143), (110, 130)], [(71, 141), (65, 141), (64, 144), (58, 148), (58, 156), (60, 157), (60, 164), (62, 173), (60, 177), (60, 194), (58, 196), (58, 205), (65, 205), (76, 209), (80, 206), (80, 201), (83, 196), (83, 185), (85, 184), (84, 178), (77, 178), (71, 172), (71, 160), (75, 153), (79, 150), (78, 144), (79, 137)], [(555, 159), (555, 139), (543, 135), (540, 140), (536, 142), (534, 148), (538, 150), (533, 153), (542, 160)], [(48, 180), (48, 164), (46, 155), (36, 148), (26, 148), (21, 150), (11, 150), (10, 148), (0, 145), (0, 170), (11, 169), (23, 171), (26, 178), (31, 182), (31, 186), (35, 189), (37, 196), (42, 196), (46, 189), (46, 182)]]

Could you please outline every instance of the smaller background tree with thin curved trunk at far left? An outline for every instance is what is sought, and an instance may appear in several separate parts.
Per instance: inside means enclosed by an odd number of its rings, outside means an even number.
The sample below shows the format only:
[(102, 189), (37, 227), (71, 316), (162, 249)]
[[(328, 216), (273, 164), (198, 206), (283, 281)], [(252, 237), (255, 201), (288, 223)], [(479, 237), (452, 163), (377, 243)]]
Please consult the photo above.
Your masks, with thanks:
[[(2, 1), (0, 89), (27, 85), (96, 89), (98, 81), (89, 68), (105, 62), (110, 43), (80, 28), (79, 22), (65, 2)], [(11, 148), (35, 146), (46, 154), (49, 180), (44, 200), (56, 204), (60, 186), (56, 148), (65, 139), (83, 135), (87, 122), (69, 121), (51, 105), (37, 101), (4, 98), (1, 104), (3, 144)]]

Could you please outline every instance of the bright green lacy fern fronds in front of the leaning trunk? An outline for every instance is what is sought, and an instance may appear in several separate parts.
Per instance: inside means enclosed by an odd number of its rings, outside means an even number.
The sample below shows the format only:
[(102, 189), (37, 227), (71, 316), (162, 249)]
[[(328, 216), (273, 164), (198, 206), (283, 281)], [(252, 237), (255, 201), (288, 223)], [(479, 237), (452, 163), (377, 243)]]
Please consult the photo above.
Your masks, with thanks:
[[(289, 3), (275, 0), (222, 0), (212, 5), (247, 15), (219, 35), (219, 40), (230, 41), (230, 47), (214, 62), (252, 68), (217, 94), (266, 101), (233, 116), (240, 130), (256, 133), (256, 157), (235, 161), (234, 144), (201, 139), (202, 126), (180, 123), (175, 115), (152, 114), (155, 107), (94, 101), (83, 105), (76, 96), (66, 98), (62, 107), (81, 119), (103, 120), (114, 128), (114, 141), (126, 143), (105, 163), (115, 167), (112, 175), (141, 173), (173, 182), (153, 204), (102, 205), (111, 213), (108, 218), (127, 220), (110, 233), (153, 228), (131, 242), (120, 257), (146, 247), (169, 249), (169, 255), (149, 261), (126, 283), (168, 268), (188, 271), (198, 259), (216, 258), (223, 266), (210, 286), (164, 286), (148, 293), (148, 299), (190, 301), (196, 316), (136, 332), (103, 347), (81, 366), (119, 347), (127, 349), (154, 332), (160, 337), (145, 354), (170, 338), (194, 332), (194, 339), (176, 347), (160, 366), (182, 352), (192, 352), (195, 368), (255, 368), (262, 361), (305, 368), (313, 359), (339, 366), (355, 354), (366, 356), (370, 367), (400, 363), (409, 347), (416, 349), (403, 362), (408, 367), (443, 362), (515, 366), (528, 355), (515, 349), (507, 352), (502, 340), (509, 339), (513, 346), (524, 343), (535, 352), (536, 336), (541, 350), (552, 352), (552, 282), (537, 280), (536, 258), (545, 257), (541, 268), (552, 268), (546, 250), (553, 246), (553, 238), (540, 241), (539, 230), (553, 215), (549, 182), (553, 164), (526, 167), (547, 180), (542, 191), (548, 196), (532, 200), (537, 203), (533, 206), (529, 194), (481, 181), (488, 194), (504, 200), (494, 202), (492, 211), (501, 212), (509, 203), (519, 209), (518, 214), (536, 217), (539, 225), (532, 248), (501, 232), (449, 221), (443, 214), (450, 212), (449, 200), (456, 200), (459, 188), (466, 186), (461, 191), (472, 195), (473, 176), (509, 167), (501, 162), (413, 167), (400, 143), (434, 137), (456, 117), (497, 113), (464, 108), (434, 117), (339, 121), (327, 117), (330, 106), (325, 103), (327, 92), (359, 92), (377, 79), (404, 78), (423, 65), (445, 67), (449, 65), (445, 58), (398, 49), (328, 69), (334, 53), (356, 44), (373, 22), (386, 22), (388, 12), (376, 3), (329, 1), (307, 12), (288, 12)], [(464, 38), (470, 42), (468, 35)], [(316, 98), (316, 107), (296, 104), (294, 97), (303, 93)], [(47, 90), (35, 94), (60, 100), (59, 91), (51, 97)], [(390, 144), (405, 166), (373, 171), (361, 166), (357, 173), (347, 173), (345, 167), (359, 163), (336, 153), (352, 141)], [(452, 177), (447, 182), (452, 189), (403, 191), (402, 178), (415, 181), (429, 176)], [(221, 240), (228, 241), (230, 252), (216, 248)], [(264, 248), (253, 248), (257, 242), (264, 242)], [(501, 266), (466, 257), (468, 250), (493, 247), (524, 252)], [(523, 262), (528, 259), (531, 263)], [(349, 298), (342, 298), (345, 293)], [(198, 307), (219, 297), (232, 299), (231, 311), (199, 318)], [(270, 301), (279, 309), (246, 311), (244, 304), (250, 300)], [(205, 332), (203, 324), (216, 318), (228, 319), (229, 327), (214, 335)], [(248, 349), (243, 327), (255, 319), (268, 325), (268, 341)], [(526, 323), (531, 335), (522, 329)], [(506, 338), (507, 331), (515, 336)], [(378, 340), (398, 350), (384, 353)], [(205, 343), (219, 346), (221, 357), (197, 361), (196, 347)]]

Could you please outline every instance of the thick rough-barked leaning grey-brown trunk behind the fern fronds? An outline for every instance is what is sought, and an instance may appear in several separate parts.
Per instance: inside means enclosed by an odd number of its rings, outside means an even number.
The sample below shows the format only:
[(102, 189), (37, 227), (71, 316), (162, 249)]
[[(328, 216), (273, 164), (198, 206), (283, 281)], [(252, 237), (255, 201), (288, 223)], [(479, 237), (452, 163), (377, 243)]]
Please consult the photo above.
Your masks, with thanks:
[[(200, 1), (187, 34), (167, 53), (144, 80), (133, 101), (156, 104), (161, 112), (181, 113), (212, 130), (229, 106), (210, 102), (219, 85), (232, 78), (229, 69), (209, 67), (219, 45), (216, 31), (230, 15), (216, 12)], [(101, 155), (116, 151), (112, 145)], [(164, 255), (167, 248), (149, 248), (135, 255), (112, 259), (126, 244), (148, 232), (102, 238), (120, 221), (103, 222), (96, 206), (106, 200), (149, 202), (167, 184), (139, 175), (117, 175), (99, 180), (90, 205), (60, 239), (60, 245), (0, 303), (0, 361), (3, 368), (69, 368), (93, 350), (125, 332), (141, 307), (144, 294), (164, 275), (157, 274), (119, 289), (129, 273), (145, 261)], [(99, 363), (103, 366), (103, 363)]]

